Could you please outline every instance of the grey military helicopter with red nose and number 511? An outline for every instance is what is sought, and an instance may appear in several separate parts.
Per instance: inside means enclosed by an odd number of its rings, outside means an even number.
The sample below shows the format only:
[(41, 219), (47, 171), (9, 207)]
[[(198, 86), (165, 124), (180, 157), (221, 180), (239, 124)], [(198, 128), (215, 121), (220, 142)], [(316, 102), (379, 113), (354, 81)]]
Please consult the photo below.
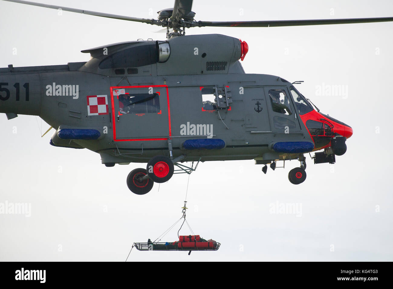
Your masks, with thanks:
[[(248, 44), (220, 34), (185, 35), (193, 27), (277, 27), (392, 21), (387, 18), (207, 22), (194, 20), (193, 1), (177, 0), (158, 19), (110, 15), (27, 1), (10, 1), (167, 29), (167, 40), (137, 40), (83, 53), (87, 62), (0, 68), (0, 112), (40, 116), (55, 128), (50, 144), (87, 148), (112, 167), (147, 163), (127, 176), (138, 195), (198, 162), (255, 160), (273, 170), (298, 160), (288, 173), (306, 179), (305, 154), (314, 164), (336, 162), (353, 130), (322, 114), (285, 79), (246, 74)], [(173, 29), (173, 31), (172, 31)], [(187, 63), (187, 65), (184, 65)], [(187, 110), (184, 110), (187, 107)], [(323, 150), (323, 151), (321, 151)], [(185, 166), (184, 162), (197, 162)], [(176, 170), (175, 170), (176, 167)]]

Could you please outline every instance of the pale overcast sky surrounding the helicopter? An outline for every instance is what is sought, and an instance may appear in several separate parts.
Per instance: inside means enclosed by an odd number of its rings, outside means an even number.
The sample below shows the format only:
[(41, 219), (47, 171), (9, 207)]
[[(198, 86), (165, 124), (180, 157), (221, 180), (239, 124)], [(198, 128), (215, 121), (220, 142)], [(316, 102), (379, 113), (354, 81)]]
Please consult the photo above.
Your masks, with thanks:
[[(156, 18), (156, 11), (173, 6), (173, 0), (42, 2), (141, 18)], [(393, 16), (388, 0), (212, 3), (195, 0), (195, 19)], [(88, 61), (81, 50), (138, 38), (165, 40), (165, 33), (154, 33), (158, 26), (71, 12), (59, 16), (54, 9), (3, 1), (0, 27), (0, 67)], [(297, 186), (288, 181), (288, 171), (298, 161), (269, 168), (266, 175), (253, 160), (200, 164), (189, 178), (187, 220), (195, 234), (220, 242), (220, 249), (191, 256), (134, 249), (129, 261), (392, 261), (392, 31), (393, 22), (187, 29), (187, 35), (246, 40), (246, 73), (305, 81), (298, 90), (354, 134), (334, 165), (314, 165), (307, 155), (307, 180)], [(318, 92), (332, 85), (343, 85), (347, 93)], [(145, 164), (106, 168), (92, 151), (49, 145), (53, 130), (40, 136), (48, 128), (39, 117), (0, 116), (0, 203), (31, 204), (31, 217), (0, 214), (0, 261), (124, 261), (133, 242), (156, 239), (181, 217), (187, 175), (135, 195), (126, 177)], [(299, 210), (274, 214), (277, 203)], [(163, 241), (175, 241), (179, 228)], [(189, 234), (186, 226), (182, 233)]]

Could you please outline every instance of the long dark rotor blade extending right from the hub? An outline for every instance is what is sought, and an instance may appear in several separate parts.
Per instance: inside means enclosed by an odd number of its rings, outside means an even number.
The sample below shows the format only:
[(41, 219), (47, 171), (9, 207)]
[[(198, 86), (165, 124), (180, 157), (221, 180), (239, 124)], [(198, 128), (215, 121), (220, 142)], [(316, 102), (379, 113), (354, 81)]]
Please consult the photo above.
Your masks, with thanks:
[(203, 26), (213, 26), (213, 27), (281, 27), (281, 26), (370, 23), (370, 22), (387, 22), (387, 21), (393, 21), (393, 17), (315, 19), (315, 20), (224, 21), (224, 22), (198, 21), (195, 23), (195, 26), (199, 26), (199, 27), (203, 27)]

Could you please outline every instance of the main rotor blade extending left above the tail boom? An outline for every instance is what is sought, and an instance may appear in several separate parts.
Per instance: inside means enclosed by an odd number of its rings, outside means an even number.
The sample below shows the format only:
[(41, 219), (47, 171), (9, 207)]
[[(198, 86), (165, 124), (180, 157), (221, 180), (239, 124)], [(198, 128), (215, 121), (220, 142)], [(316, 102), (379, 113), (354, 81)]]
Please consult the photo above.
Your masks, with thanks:
[(154, 19), (145, 19), (145, 18), (113, 15), (113, 14), (108, 14), (108, 13), (94, 12), (94, 11), (88, 11), (88, 10), (82, 10), (82, 9), (74, 9), (74, 8), (55, 6), (55, 5), (49, 5), (49, 4), (41, 4), (41, 3), (29, 2), (29, 1), (20, 1), (20, 0), (3, 0), (3, 1), (15, 2), (15, 3), (20, 3), (20, 4), (27, 4), (27, 5), (33, 5), (33, 6), (45, 7), (45, 8), (51, 8), (51, 9), (61, 9), (63, 11), (70, 11), (70, 12), (75, 12), (75, 13), (94, 15), (94, 16), (99, 16), (99, 17), (106, 17), (106, 18), (113, 18), (113, 19), (119, 19), (119, 20), (128, 20), (128, 21), (136, 21), (136, 22), (143, 22), (143, 23), (148, 23), (148, 24), (159, 25), (157, 20), (154, 20)]

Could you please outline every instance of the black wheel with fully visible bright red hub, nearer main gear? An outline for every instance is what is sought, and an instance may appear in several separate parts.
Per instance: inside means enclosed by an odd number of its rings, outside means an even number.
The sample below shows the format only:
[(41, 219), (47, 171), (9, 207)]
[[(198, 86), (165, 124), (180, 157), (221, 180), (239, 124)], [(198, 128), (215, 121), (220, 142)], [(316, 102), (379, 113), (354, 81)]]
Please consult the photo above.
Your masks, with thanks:
[(166, 156), (154, 156), (147, 163), (147, 174), (154, 182), (167, 182), (173, 176), (173, 162)]

